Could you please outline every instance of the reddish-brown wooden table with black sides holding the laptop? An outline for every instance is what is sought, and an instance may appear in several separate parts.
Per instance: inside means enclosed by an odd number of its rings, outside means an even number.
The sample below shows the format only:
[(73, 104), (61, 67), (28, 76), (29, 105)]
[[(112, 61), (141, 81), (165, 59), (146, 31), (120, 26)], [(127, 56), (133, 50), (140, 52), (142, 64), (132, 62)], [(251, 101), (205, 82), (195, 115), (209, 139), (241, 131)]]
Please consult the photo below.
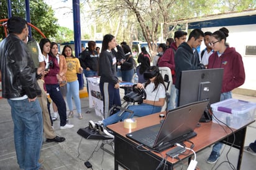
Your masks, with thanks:
[[(162, 161), (163, 157), (165, 158), (167, 151), (162, 151), (162, 153), (155, 153), (153, 151), (139, 151), (136, 146), (139, 144), (133, 140), (130, 140), (126, 137), (127, 133), (134, 132), (144, 127), (149, 127), (160, 123), (159, 114), (165, 114), (165, 112), (147, 115), (145, 117), (137, 118), (137, 128), (128, 129), (124, 128), (124, 122), (115, 123), (108, 125), (107, 128), (114, 132), (114, 166), (115, 169), (118, 169), (119, 166), (122, 166), (126, 169), (155, 169)], [(252, 123), (252, 122), (250, 122)], [(249, 125), (248, 123), (247, 125)], [(239, 149), (239, 159), (237, 162), (237, 169), (240, 169), (240, 164), (242, 161), (242, 153), (244, 148), (245, 134), (247, 125), (239, 129), (232, 130), (227, 127), (221, 127), (217, 123), (201, 123), (201, 127), (196, 127), (194, 132), (197, 133), (197, 136), (191, 138), (190, 141), (194, 143), (193, 150), (199, 152), (208, 146), (213, 145), (217, 141), (222, 141), (227, 145), (231, 145), (234, 140), (234, 148)], [(233, 132), (232, 132), (233, 131)], [(184, 142), (185, 145), (190, 148), (191, 143), (188, 141)], [(188, 153), (188, 151), (186, 151)], [(178, 159), (167, 158), (167, 164), (165, 165), (166, 169), (173, 169), (173, 166), (179, 161), (191, 158), (193, 153), (190, 152), (188, 155), (180, 155)]]

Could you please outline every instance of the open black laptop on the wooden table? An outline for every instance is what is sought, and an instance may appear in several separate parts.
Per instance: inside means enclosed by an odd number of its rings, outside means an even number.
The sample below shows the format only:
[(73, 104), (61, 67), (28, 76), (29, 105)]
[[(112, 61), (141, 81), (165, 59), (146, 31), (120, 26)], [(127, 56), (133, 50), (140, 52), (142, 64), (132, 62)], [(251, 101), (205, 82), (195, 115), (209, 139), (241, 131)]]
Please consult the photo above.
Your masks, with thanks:
[(174, 146), (175, 143), (180, 143), (196, 136), (194, 128), (208, 103), (209, 100), (192, 102), (176, 107), (176, 109), (168, 110), (162, 123), (127, 133), (126, 136), (137, 143), (147, 146), (150, 150), (167, 150)]

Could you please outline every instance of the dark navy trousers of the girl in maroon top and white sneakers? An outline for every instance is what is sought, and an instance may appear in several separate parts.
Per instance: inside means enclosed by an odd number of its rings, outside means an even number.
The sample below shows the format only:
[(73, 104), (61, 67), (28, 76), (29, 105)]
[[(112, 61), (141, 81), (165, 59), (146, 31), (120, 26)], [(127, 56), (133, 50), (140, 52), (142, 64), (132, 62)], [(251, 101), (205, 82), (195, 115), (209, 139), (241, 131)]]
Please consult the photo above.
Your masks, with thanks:
[[(66, 125), (66, 103), (63, 99), (62, 92), (60, 91), (59, 84), (45, 84), (46, 90), (50, 95), (53, 102), (58, 107), (58, 115), (60, 115), (60, 126)], [(48, 104), (48, 110), (50, 113), (50, 105)]]

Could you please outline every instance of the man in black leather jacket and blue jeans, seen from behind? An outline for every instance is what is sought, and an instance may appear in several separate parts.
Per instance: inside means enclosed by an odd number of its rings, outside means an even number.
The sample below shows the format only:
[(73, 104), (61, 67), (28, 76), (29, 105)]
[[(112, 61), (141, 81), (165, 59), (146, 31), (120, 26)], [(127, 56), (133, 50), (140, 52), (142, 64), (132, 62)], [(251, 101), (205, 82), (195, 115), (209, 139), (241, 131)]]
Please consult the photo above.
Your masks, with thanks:
[(27, 22), (21, 17), (7, 21), (9, 35), (0, 43), (2, 97), (11, 106), (19, 168), (39, 169), (43, 120), (37, 96), (41, 91), (29, 49), (22, 41), (27, 29)]

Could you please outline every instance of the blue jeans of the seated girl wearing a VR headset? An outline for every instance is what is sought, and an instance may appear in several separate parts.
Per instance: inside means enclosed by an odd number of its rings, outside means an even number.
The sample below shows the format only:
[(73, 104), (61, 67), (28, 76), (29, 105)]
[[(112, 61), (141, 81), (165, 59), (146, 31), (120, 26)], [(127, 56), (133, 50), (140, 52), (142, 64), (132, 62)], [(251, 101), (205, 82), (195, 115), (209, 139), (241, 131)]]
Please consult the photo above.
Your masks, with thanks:
[[(140, 104), (140, 105), (130, 105), (128, 107), (129, 110), (134, 111), (134, 114), (132, 114), (130, 117), (134, 117), (134, 115), (142, 117), (145, 115), (155, 114), (157, 112), (160, 112), (162, 107), (159, 106), (153, 106), (149, 104)], [(130, 112), (124, 112), (121, 116), (119, 116), (119, 113), (121, 111), (117, 112), (114, 115), (111, 115), (110, 117), (107, 117), (107, 119), (103, 120), (103, 125), (106, 127), (107, 125), (111, 125), (113, 123), (116, 123), (120, 120), (127, 119), (130, 115)]]

